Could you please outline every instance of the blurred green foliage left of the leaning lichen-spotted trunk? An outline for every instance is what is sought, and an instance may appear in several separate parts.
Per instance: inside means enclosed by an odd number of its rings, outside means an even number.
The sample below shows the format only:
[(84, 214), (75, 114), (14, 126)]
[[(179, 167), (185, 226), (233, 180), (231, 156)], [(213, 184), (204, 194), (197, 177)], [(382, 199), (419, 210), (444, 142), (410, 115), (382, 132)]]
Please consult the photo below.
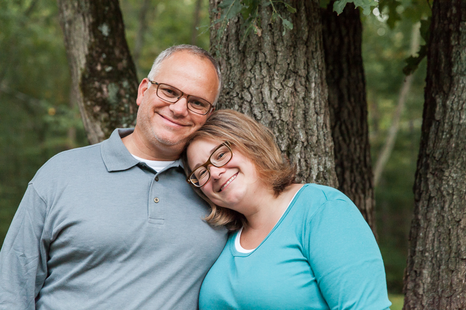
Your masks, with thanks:
[[(0, 240), (28, 182), (51, 156), (84, 145), (54, 1), (0, 1)], [(70, 163), (72, 164), (72, 163)]]

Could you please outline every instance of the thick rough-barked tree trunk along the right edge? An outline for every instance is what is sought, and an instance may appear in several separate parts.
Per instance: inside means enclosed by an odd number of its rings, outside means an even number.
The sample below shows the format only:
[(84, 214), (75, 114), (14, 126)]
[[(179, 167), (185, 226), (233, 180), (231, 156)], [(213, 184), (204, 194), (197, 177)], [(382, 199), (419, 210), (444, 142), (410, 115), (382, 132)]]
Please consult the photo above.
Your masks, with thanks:
[(466, 2), (433, 1), (404, 310), (466, 309)]

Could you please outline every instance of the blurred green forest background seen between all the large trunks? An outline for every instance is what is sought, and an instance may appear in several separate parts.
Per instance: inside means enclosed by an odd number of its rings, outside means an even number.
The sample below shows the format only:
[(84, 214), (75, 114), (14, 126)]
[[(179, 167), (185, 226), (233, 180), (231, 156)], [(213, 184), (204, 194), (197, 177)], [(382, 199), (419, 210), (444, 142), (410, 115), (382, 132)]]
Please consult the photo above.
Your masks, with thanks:
[[(361, 14), (372, 167), (389, 155), (375, 186), (375, 213), (393, 294), (403, 288), (426, 76), (425, 60), (408, 85), (402, 72), (405, 60), (425, 44), (419, 20), (429, 17), (428, 2), (423, 10), (413, 9), (413, 2), (398, 1), (392, 16), (378, 8)], [(167, 47), (209, 49), (208, 5), (207, 0), (120, 1), (139, 80)], [(40, 166), (88, 144), (70, 84), (56, 1), (0, 0), (0, 243)]]

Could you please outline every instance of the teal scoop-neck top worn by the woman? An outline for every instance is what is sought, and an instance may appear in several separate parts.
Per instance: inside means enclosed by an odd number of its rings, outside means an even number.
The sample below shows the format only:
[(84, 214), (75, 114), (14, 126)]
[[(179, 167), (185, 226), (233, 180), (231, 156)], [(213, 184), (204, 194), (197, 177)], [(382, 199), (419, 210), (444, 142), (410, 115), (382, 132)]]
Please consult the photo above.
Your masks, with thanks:
[(252, 252), (237, 233), (202, 283), (200, 310), (383, 310), (382, 256), (356, 206), (338, 190), (306, 184)]

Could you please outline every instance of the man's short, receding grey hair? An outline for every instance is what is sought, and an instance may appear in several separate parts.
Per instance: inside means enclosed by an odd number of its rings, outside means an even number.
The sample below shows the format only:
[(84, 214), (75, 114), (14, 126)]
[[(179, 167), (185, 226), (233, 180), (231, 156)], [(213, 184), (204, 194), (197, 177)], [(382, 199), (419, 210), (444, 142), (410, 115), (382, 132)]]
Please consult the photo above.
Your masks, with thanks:
[(222, 90), (222, 74), (220, 72), (220, 66), (218, 65), (218, 62), (216, 62), (214, 57), (208, 51), (206, 51), (205, 49), (201, 47), (197, 47), (195, 45), (188, 45), (188, 44), (180, 44), (180, 45), (174, 45), (172, 47), (168, 47), (166, 50), (161, 52), (159, 56), (157, 56), (157, 58), (154, 60), (154, 63), (152, 64), (152, 68), (150, 69), (150, 72), (147, 78), (149, 78), (150, 80), (153, 80), (154, 77), (159, 73), (160, 67), (162, 66), (162, 62), (164, 62), (164, 60), (169, 58), (174, 53), (182, 52), (182, 51), (199, 56), (200, 58), (205, 58), (214, 65), (215, 71), (217, 73), (217, 78), (218, 78), (217, 95), (212, 104), (215, 106), (218, 100), (218, 96), (220, 96), (220, 91)]

